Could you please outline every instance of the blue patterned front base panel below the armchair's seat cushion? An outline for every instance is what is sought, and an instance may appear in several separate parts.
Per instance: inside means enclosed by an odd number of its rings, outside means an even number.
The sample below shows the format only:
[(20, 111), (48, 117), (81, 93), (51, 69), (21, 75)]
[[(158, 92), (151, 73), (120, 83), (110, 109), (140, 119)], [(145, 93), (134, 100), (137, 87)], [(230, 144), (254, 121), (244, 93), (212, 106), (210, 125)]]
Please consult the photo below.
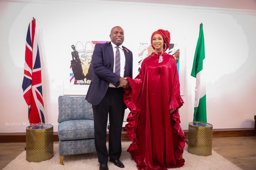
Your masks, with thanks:
[(59, 155), (95, 152), (94, 139), (59, 141)]

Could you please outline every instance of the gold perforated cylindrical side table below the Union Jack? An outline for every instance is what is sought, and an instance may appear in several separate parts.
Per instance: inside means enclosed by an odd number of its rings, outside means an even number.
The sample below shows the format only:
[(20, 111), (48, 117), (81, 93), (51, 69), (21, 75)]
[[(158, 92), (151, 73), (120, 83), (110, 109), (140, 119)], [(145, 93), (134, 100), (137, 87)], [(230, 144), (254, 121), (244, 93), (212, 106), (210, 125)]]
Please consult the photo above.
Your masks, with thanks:
[(53, 126), (28, 126), (26, 128), (26, 160), (41, 162), (52, 157)]

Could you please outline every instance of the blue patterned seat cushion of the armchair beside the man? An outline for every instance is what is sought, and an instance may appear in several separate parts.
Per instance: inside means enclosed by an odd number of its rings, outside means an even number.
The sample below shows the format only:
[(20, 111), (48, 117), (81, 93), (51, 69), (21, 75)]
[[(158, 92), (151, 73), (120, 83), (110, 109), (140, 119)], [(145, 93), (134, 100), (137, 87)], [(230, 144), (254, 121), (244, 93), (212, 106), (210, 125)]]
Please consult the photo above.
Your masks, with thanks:
[(60, 123), (58, 127), (60, 140), (74, 140), (94, 138), (93, 120), (68, 120)]

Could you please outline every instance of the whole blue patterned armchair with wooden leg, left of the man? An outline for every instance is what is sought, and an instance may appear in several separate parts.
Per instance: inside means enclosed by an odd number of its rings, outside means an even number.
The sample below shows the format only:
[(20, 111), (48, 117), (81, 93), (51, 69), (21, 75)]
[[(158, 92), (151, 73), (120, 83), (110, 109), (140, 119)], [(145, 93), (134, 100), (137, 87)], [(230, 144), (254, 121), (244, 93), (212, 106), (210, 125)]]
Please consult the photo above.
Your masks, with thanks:
[(59, 155), (95, 152), (92, 106), (85, 97), (59, 96)]

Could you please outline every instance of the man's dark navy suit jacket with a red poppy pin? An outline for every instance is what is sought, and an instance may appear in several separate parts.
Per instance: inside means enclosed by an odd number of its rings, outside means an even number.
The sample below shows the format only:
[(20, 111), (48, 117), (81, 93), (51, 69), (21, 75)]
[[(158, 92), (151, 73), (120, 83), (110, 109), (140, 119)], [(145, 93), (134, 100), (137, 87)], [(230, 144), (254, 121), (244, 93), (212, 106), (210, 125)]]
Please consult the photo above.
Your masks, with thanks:
[[(124, 77), (132, 78), (133, 55), (132, 52), (124, 46), (123, 51), (126, 59)], [(94, 69), (94, 77), (91, 80), (85, 99), (89, 103), (97, 105), (105, 96), (110, 83), (116, 87), (119, 86), (118, 80), (120, 76), (113, 73), (114, 53), (111, 42), (95, 45), (91, 63)]]

